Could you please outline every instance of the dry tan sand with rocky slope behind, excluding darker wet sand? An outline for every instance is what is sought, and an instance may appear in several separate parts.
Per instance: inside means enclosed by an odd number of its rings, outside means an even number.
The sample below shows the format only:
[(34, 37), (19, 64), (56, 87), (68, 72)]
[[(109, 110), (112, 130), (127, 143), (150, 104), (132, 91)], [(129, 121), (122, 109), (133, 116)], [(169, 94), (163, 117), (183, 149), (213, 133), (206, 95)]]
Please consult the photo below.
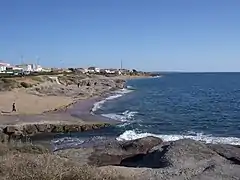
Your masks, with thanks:
[[(112, 89), (121, 88), (125, 80), (143, 78), (141, 76), (95, 76), (66, 86), (64, 82), (43, 82), (29, 89), (15, 88), (0, 92), (0, 111), (2, 115), (41, 114), (47, 111), (64, 108), (78, 100), (102, 96)], [(146, 78), (146, 77), (145, 77)], [(116, 83), (119, 81), (119, 83)], [(88, 86), (88, 83), (92, 85)], [(95, 85), (94, 85), (95, 84)], [(120, 86), (120, 87), (117, 87)], [(16, 104), (17, 112), (12, 112), (12, 104)]]

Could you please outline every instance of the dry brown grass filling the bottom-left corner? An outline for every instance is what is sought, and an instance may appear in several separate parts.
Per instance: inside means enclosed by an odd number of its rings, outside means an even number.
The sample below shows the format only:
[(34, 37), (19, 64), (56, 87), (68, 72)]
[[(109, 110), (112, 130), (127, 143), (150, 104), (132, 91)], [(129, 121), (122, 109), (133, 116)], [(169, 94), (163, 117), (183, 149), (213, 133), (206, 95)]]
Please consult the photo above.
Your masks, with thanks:
[[(107, 174), (95, 167), (80, 166), (76, 162), (47, 153), (33, 145), (1, 145), (1, 180), (124, 180), (123, 176)], [(34, 148), (33, 148), (34, 147)], [(9, 150), (7, 150), (9, 149)], [(34, 150), (33, 150), (34, 149)], [(36, 151), (36, 149), (38, 149)], [(39, 150), (41, 149), (41, 150)]]

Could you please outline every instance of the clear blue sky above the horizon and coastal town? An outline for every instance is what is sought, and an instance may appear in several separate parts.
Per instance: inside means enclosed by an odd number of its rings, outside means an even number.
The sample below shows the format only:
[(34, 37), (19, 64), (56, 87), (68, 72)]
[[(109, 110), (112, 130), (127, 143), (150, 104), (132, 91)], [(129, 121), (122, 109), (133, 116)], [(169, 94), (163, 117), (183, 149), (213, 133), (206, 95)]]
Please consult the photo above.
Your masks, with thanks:
[(0, 59), (240, 71), (239, 0), (0, 0)]

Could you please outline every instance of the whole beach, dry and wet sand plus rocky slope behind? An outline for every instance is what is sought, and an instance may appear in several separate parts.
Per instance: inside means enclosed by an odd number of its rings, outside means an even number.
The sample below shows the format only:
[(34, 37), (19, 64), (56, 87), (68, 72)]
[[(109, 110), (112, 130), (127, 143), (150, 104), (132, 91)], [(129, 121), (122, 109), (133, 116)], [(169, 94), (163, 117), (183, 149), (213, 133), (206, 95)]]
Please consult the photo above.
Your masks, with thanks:
[[(66, 86), (64, 82), (59, 84), (47, 81), (32, 88), (0, 92), (0, 124), (115, 123), (108, 118), (91, 114), (90, 111), (94, 103), (110, 92), (123, 88), (125, 80), (129, 78), (88, 77), (78, 81), (80, 87), (76, 82)], [(17, 112), (12, 112), (12, 103), (16, 103)]]

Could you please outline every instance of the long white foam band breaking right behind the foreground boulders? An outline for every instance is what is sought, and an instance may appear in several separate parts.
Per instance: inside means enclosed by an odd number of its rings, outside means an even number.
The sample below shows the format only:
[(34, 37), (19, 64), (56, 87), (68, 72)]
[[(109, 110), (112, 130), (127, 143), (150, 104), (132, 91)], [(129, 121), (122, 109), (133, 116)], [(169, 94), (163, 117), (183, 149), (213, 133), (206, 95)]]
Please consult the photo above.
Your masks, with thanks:
[(195, 133), (195, 135), (163, 135), (163, 134), (152, 134), (152, 133), (137, 133), (134, 130), (125, 131), (119, 137), (117, 137), (118, 141), (124, 140), (135, 140), (147, 136), (154, 136), (161, 138), (163, 141), (176, 141), (179, 139), (193, 139), (196, 141), (203, 141), (206, 143), (213, 144), (232, 144), (232, 145), (240, 145), (240, 138), (236, 137), (213, 137), (210, 135), (204, 135), (203, 133)]

